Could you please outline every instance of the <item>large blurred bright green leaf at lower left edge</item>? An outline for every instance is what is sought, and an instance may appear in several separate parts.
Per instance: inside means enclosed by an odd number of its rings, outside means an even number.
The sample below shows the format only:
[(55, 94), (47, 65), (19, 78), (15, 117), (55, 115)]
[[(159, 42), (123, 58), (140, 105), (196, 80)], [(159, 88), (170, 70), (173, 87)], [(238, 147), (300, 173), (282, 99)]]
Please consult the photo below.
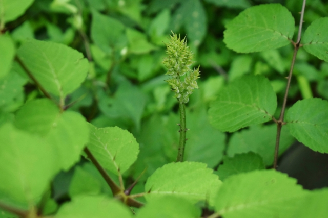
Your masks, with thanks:
[(9, 123), (0, 128), (0, 141), (0, 192), (17, 203), (36, 203), (57, 173), (56, 151)]

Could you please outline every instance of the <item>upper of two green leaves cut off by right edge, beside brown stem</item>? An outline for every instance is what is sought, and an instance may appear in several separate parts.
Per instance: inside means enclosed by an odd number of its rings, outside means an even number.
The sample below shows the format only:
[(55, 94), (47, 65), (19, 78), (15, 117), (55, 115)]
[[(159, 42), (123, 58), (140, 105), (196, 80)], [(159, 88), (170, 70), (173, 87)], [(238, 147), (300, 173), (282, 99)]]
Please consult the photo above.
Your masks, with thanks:
[(305, 30), (301, 43), (306, 52), (328, 62), (328, 17), (321, 17)]

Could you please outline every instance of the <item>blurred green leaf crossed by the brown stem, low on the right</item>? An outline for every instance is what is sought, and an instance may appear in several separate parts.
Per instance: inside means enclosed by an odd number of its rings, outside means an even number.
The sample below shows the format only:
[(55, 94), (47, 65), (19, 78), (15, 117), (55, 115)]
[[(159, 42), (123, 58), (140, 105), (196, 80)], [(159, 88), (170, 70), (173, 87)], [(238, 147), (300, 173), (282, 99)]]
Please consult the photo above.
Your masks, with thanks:
[[(256, 125), (232, 135), (227, 154), (254, 152), (262, 156), (264, 164), (272, 165), (276, 143), (277, 125)], [(288, 128), (282, 127), (280, 135), (279, 154), (282, 154), (295, 141)]]

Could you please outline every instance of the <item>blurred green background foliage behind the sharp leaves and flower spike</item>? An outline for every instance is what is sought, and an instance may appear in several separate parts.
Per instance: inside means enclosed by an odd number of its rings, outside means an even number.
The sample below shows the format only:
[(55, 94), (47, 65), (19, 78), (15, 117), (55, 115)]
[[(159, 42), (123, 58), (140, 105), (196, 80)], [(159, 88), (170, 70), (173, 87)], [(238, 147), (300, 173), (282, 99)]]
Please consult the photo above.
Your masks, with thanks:
[[(185, 159), (217, 169), (224, 156), (229, 160), (237, 153), (252, 151), (261, 156), (265, 166), (272, 165), (275, 125), (221, 133), (209, 124), (207, 110), (223, 86), (245, 74), (268, 77), (281, 106), (293, 46), (238, 54), (222, 41), (224, 25), (242, 10), (273, 2), (288, 8), (298, 23), (299, 0), (35, 0), (23, 16), (6, 27), (17, 46), (28, 38), (53, 41), (69, 45), (89, 59), (88, 78), (66, 99), (71, 103), (68, 110), (80, 112), (97, 127), (118, 126), (133, 133), (140, 143), (140, 154), (125, 174), (131, 183), (145, 169), (141, 180), (176, 158), (178, 107), (161, 64), (166, 56), (163, 42), (171, 31), (187, 37), (195, 53), (192, 67), (200, 65), (201, 70), (199, 89), (187, 105), (190, 130)], [(315, 19), (328, 16), (324, 1), (309, 0), (306, 4), (303, 30)], [(13, 113), (25, 102), (42, 96), (19, 69), (16, 71), (0, 81), (0, 86), (10, 83), (6, 86), (10, 90), (0, 90), (0, 123), (13, 119)], [(300, 48), (288, 104), (312, 96), (328, 99), (328, 63)], [(282, 153), (295, 140), (285, 131), (281, 141)], [(91, 185), (78, 187), (79, 179)], [(77, 167), (57, 176), (54, 197), (66, 198), (78, 191), (110, 193), (100, 181), (93, 165), (81, 160)], [(135, 192), (142, 191), (142, 185), (138, 186)]]

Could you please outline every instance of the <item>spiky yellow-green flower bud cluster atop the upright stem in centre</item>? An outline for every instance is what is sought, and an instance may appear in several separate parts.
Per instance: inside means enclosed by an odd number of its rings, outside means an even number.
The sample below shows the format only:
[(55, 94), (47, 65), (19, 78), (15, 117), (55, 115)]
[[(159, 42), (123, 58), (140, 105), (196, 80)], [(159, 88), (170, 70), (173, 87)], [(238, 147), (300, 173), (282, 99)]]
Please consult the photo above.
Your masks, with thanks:
[[(187, 103), (193, 89), (198, 88), (196, 79), (199, 78), (199, 66), (197, 69), (191, 70), (189, 66), (194, 63), (192, 61), (194, 54), (187, 46), (186, 38), (181, 40), (181, 37), (172, 32), (171, 39), (166, 43), (166, 53), (169, 57), (163, 60), (163, 64), (169, 69), (166, 75), (171, 78), (167, 82), (171, 85), (175, 92), (174, 97), (180, 103)], [(186, 75), (185, 81), (181, 81), (180, 77)]]

